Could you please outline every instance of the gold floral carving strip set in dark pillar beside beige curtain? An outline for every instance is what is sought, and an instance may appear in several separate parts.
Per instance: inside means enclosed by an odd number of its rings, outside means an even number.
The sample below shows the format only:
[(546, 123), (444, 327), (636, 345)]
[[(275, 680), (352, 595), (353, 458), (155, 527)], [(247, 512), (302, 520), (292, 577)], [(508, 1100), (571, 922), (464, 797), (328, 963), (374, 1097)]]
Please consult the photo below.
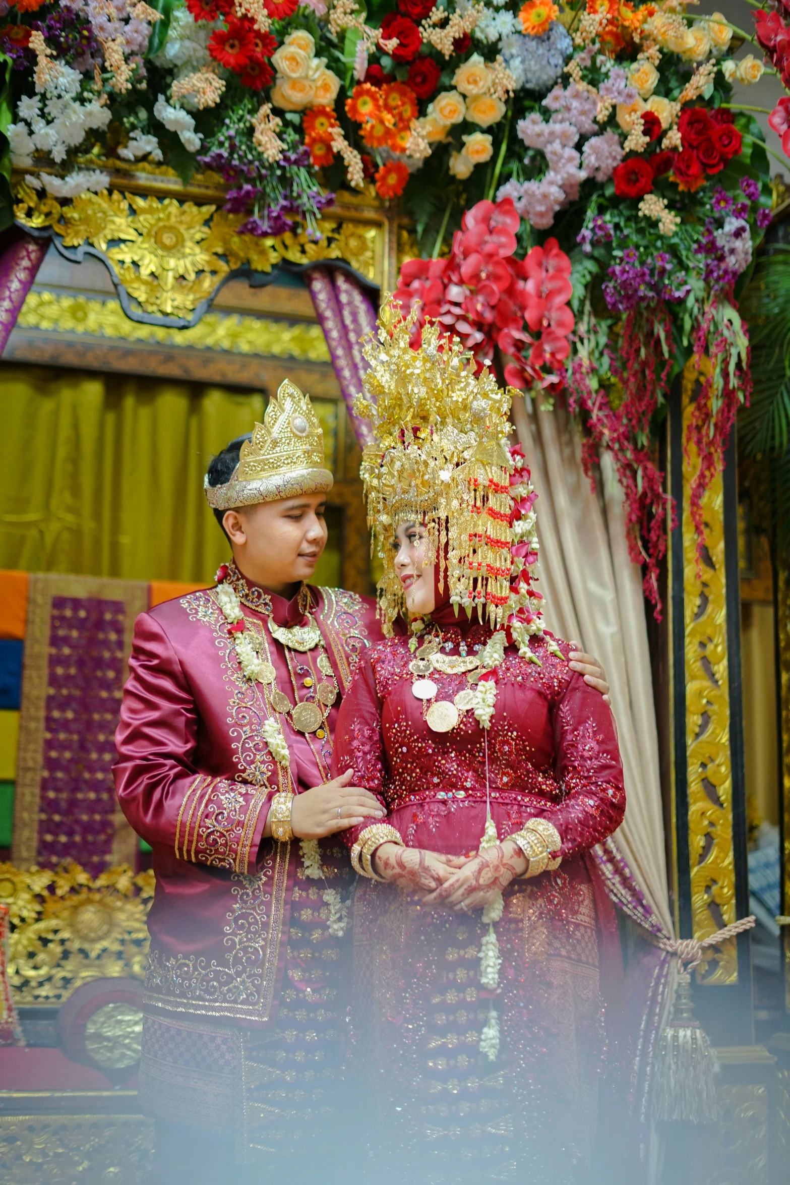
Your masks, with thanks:
[[(696, 372), (687, 365), (682, 384), (685, 441), (695, 384)], [(689, 491), (699, 457), (691, 443), (688, 451), (682, 514), (688, 850), (693, 933), (695, 939), (705, 939), (736, 921), (724, 480), (717, 474), (702, 499), (706, 545), (698, 561)], [(698, 974), (706, 984), (737, 982), (736, 941), (711, 947)]]

